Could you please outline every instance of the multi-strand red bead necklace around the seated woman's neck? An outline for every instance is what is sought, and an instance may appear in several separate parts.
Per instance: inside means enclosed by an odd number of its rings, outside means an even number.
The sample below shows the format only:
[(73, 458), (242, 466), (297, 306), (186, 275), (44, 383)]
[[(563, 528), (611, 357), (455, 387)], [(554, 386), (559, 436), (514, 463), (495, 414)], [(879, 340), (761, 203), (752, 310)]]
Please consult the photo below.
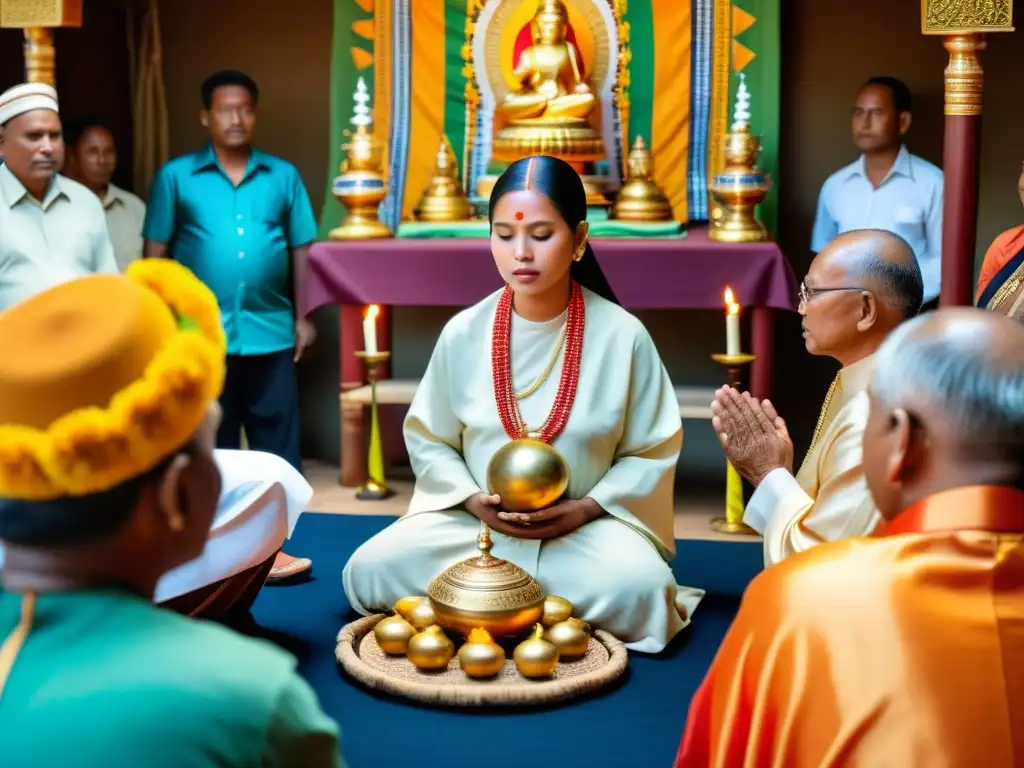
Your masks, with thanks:
[(512, 390), (512, 359), (509, 353), (512, 339), (512, 288), (505, 287), (505, 291), (498, 299), (498, 309), (495, 311), (495, 327), (490, 337), (490, 368), (495, 378), (498, 415), (511, 439), (535, 437), (550, 443), (565, 428), (572, 402), (575, 400), (577, 385), (580, 383), (586, 314), (583, 289), (573, 282), (569, 290), (569, 305), (565, 318), (565, 352), (555, 403), (544, 426), (536, 433), (527, 434), (526, 424), (519, 413), (519, 403)]

